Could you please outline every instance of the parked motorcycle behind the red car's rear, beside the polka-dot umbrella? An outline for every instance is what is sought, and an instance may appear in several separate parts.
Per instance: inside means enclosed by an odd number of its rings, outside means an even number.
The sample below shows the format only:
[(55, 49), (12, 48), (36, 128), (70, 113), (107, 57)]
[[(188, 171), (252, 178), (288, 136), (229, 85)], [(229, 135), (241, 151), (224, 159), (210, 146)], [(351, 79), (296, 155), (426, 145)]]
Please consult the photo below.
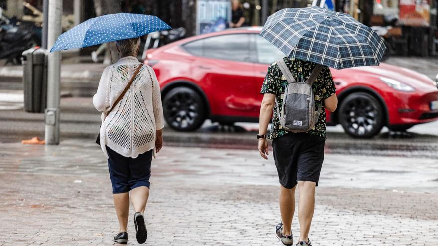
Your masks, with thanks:
[(177, 40), (183, 39), (186, 37), (186, 34), (187, 31), (184, 27), (179, 27), (168, 31), (166, 30), (149, 33), (146, 37), (146, 43), (144, 44), (143, 54), (141, 58), (143, 60), (146, 60), (148, 49), (156, 49), (166, 44), (170, 44)]

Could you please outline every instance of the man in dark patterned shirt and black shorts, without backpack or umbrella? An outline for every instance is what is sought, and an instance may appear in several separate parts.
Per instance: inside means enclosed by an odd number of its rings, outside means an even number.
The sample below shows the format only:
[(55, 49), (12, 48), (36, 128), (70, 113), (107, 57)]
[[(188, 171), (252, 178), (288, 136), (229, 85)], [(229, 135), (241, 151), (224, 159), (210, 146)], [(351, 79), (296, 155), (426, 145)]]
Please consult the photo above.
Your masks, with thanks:
[[(300, 59), (283, 59), (294, 78), (308, 76), (316, 64)], [(305, 133), (292, 133), (282, 128), (277, 106), (282, 108), (286, 85), (285, 76), (274, 62), (269, 66), (261, 89), (264, 94), (260, 110), (260, 130), (258, 149), (267, 159), (268, 142), (266, 132), (271, 114), (272, 127), (269, 139), (272, 139), (274, 160), (280, 178), (280, 212), (282, 223), (277, 225), (276, 234), (284, 245), (292, 245), (292, 217), (295, 211), (295, 188), (300, 191), (298, 219), (300, 238), (298, 245), (311, 246), (308, 234), (314, 212), (315, 187), (318, 186), (321, 167), (324, 160), (326, 140), (326, 112), (322, 110), (315, 127)], [(312, 89), (315, 95), (315, 107), (324, 107), (334, 112), (337, 107), (336, 89), (328, 67), (324, 67), (315, 80)]]

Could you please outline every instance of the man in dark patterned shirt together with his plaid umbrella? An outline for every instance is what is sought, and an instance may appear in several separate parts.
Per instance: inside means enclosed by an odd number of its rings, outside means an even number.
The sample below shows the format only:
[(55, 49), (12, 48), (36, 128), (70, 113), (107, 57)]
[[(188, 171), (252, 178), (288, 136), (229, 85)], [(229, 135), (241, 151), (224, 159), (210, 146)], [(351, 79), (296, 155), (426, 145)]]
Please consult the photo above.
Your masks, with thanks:
[[(319, 2), (323, 5), (323, 1)], [(324, 1), (327, 2), (329, 1)], [(258, 150), (265, 159), (268, 155), (266, 138), (272, 139), (273, 156), (281, 184), (281, 222), (276, 226), (275, 232), (283, 245), (293, 244), (291, 224), (295, 212), (295, 188), (298, 186), (300, 236), (297, 246), (311, 246), (308, 235), (326, 139), (324, 109), (334, 112), (337, 107), (336, 88), (329, 67), (344, 69), (379, 65), (386, 47), (376, 33), (350, 15), (317, 6), (288, 8), (276, 12), (268, 18), (260, 36), (287, 55), (283, 61), (278, 60), (268, 68), (261, 89), (264, 96), (257, 135)], [(306, 128), (306, 132), (301, 133), (286, 130), (283, 106), (285, 90), (289, 86), (298, 86), (290, 82), (291, 77), (295, 81), (315, 78), (321, 66), (322, 70), (313, 84), (308, 83), (311, 86), (309, 90), (313, 91), (315, 109), (320, 111), (314, 127), (310, 126)], [(313, 73), (315, 68), (318, 69)], [(285, 105), (292, 107), (298, 105), (290, 103), (289, 99), (286, 102)], [(272, 112), (272, 127), (267, 136)], [(288, 118), (295, 117), (294, 113)], [(301, 126), (301, 121), (297, 122)], [(295, 125), (295, 121), (293, 124)]]

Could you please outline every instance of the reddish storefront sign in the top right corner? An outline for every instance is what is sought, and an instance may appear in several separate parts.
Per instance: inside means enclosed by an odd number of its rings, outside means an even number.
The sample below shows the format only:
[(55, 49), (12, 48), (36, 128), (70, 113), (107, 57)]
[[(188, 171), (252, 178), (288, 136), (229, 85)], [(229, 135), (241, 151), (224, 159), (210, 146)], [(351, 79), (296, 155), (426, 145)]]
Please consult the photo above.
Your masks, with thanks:
[(400, 24), (428, 27), (430, 0), (400, 0)]

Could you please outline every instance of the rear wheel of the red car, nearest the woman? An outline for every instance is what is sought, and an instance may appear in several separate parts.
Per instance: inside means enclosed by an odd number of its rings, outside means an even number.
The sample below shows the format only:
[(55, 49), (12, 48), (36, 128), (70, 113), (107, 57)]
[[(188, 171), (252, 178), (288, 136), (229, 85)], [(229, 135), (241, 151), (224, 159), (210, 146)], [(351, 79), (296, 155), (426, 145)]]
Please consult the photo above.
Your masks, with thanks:
[(171, 128), (177, 131), (198, 129), (206, 119), (204, 101), (191, 88), (171, 89), (164, 96), (163, 107), (164, 119)]

